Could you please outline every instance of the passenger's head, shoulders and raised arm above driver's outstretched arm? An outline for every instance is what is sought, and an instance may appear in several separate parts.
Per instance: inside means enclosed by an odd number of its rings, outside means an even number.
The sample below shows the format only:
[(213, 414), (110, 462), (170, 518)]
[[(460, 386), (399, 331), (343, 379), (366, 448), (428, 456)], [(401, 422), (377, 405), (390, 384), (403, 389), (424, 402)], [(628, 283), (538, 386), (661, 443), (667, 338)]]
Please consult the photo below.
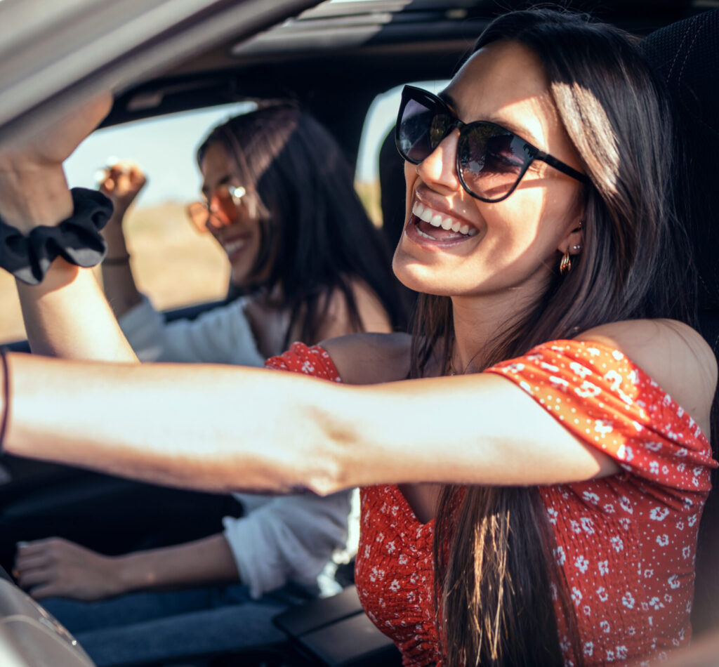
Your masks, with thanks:
[(163, 323), (134, 283), (122, 218), (145, 176), (121, 164), (101, 188), (114, 203), (104, 288), (143, 360), (261, 365), (295, 339), (400, 325), (380, 234), (341, 149), (311, 116), (291, 104), (260, 105), (212, 129), (196, 157), (203, 201), (188, 213), (223, 249), (229, 293), (242, 298), (192, 323)]

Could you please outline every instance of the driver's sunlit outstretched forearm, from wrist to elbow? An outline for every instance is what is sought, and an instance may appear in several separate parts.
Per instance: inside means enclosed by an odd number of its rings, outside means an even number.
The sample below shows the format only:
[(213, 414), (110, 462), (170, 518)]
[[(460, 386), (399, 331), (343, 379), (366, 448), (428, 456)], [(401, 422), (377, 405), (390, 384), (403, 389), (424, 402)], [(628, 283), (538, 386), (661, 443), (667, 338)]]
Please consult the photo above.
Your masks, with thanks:
[(335, 490), (338, 456), (308, 403), (329, 383), (237, 367), (7, 362), (9, 454), (217, 492)]

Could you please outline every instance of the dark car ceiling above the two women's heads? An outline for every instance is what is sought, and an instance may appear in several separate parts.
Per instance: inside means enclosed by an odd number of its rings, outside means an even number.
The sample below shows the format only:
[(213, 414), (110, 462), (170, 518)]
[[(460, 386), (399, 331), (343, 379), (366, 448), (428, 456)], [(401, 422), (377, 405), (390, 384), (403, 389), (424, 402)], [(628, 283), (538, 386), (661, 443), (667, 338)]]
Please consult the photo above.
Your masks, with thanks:
[[(248, 40), (225, 40), (125, 92), (109, 123), (246, 98), (289, 97), (324, 122), (350, 157), (378, 92), (452, 75), (487, 22), (526, 0), (359, 0), (308, 9)], [(636, 35), (719, 0), (565, 0)]]

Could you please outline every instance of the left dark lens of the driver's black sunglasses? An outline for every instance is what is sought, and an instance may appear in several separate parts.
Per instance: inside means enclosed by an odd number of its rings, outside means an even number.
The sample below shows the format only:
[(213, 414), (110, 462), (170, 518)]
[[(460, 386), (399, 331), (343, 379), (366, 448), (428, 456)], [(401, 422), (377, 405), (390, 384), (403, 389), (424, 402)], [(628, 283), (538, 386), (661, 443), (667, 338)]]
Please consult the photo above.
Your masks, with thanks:
[(408, 162), (418, 164), (446, 137), (452, 119), (430, 101), (406, 98), (397, 121), (397, 148)]

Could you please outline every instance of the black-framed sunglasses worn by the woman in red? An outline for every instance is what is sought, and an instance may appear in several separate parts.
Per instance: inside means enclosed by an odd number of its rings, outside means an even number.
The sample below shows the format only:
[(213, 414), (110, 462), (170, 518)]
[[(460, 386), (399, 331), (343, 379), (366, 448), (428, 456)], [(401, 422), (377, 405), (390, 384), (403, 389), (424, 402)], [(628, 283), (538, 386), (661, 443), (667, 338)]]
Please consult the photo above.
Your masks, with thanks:
[(488, 121), (463, 123), (441, 98), (415, 86), (404, 87), (395, 143), (405, 160), (418, 165), (455, 127), (459, 129), (457, 175), (462, 188), (472, 197), (487, 202), (508, 198), (534, 160), (589, 183), (586, 175), (501, 125)]

